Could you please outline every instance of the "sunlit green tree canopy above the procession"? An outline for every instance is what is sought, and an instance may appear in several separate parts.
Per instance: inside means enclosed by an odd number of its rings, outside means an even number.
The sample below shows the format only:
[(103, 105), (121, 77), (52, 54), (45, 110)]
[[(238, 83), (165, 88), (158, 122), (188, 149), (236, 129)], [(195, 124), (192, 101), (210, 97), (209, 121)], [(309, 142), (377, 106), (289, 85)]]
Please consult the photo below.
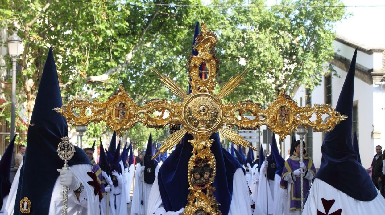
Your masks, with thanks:
[[(177, 100), (151, 68), (187, 91), (186, 63), (196, 21), (206, 22), (218, 35), (218, 89), (236, 73), (251, 70), (227, 102), (251, 99), (264, 106), (281, 88), (288, 93), (300, 85), (311, 89), (333, 72), (333, 27), (345, 14), (345, 8), (335, 7), (343, 6), (340, 0), (282, 0), (276, 7), (262, 0), (196, 5), (202, 2), (0, 0), (1, 27), (23, 38), (17, 75), (23, 96), (17, 105), (25, 107), (29, 119), (50, 46), (63, 102), (73, 97), (104, 101), (119, 84), (139, 105), (151, 98)], [(103, 125), (89, 125), (85, 137), (106, 131)], [(124, 136), (143, 147), (149, 132), (139, 126)], [(153, 135), (162, 140), (167, 131)]]

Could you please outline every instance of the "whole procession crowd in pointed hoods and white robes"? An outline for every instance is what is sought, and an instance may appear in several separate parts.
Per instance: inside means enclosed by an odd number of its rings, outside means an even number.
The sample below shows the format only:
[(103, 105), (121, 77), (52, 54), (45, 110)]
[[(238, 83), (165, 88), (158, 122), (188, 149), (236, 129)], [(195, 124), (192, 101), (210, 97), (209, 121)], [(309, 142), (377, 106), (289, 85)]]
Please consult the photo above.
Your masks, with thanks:
[[(194, 40), (198, 33), (197, 23)], [(222, 148), (218, 133), (211, 135), (210, 139), (214, 140), (211, 152), (216, 158), (213, 194), (221, 214), (362, 215), (385, 210), (382, 148), (376, 147), (372, 178), (353, 149), (356, 55), (357, 50), (336, 105), (336, 110), (348, 118), (326, 133), (318, 172), (306, 150), (301, 151), (300, 141), (292, 141), (291, 155), (284, 160), (273, 136), (271, 153), (263, 155), (261, 146), (259, 156), (254, 159), (251, 150), (247, 156), (233, 146), (228, 152)], [(50, 48), (28, 127), (27, 147), (24, 155), (23, 147), (18, 148), (22, 159), (17, 155), (20, 164), (12, 183), (10, 160), (15, 137), (0, 160), (0, 214), (59, 215), (66, 208), (70, 215), (178, 215), (184, 213), (187, 204), (188, 175), (198, 184), (211, 177), (212, 170), (207, 167), (188, 172), (187, 163), (193, 151), (189, 134), (169, 157), (157, 160), (152, 159), (155, 147), (151, 134), (146, 153), (140, 159), (140, 156), (134, 158), (132, 145), (127, 147), (127, 143), (120, 153), (121, 142), (116, 144), (114, 132), (108, 150), (100, 140), (98, 163), (94, 158), (94, 142), (90, 148), (75, 146), (74, 156), (68, 160), (69, 168), (65, 168), (57, 148), (63, 137), (68, 136), (67, 122), (52, 111), (61, 106)], [(303, 142), (303, 148), (305, 145)], [(127, 211), (127, 203), (131, 204), (131, 212)]]

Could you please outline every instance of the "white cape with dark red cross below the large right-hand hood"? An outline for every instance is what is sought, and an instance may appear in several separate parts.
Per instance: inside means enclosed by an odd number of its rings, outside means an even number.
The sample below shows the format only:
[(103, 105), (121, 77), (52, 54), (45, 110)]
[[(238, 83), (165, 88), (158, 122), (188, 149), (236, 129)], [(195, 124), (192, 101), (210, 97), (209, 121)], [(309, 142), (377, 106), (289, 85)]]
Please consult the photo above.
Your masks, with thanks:
[[(322, 198), (325, 200), (335, 200), (329, 210), (329, 213), (325, 213)], [(382, 214), (385, 211), (385, 199), (378, 192), (377, 197), (372, 201), (359, 201), (346, 195), (340, 190), (337, 190), (328, 183), (323, 182), (319, 178), (315, 178), (313, 184), (310, 187), (309, 195), (303, 208), (302, 214), (313, 215), (317, 214), (318, 211), (325, 214), (331, 214), (339, 209), (342, 209), (341, 215)]]

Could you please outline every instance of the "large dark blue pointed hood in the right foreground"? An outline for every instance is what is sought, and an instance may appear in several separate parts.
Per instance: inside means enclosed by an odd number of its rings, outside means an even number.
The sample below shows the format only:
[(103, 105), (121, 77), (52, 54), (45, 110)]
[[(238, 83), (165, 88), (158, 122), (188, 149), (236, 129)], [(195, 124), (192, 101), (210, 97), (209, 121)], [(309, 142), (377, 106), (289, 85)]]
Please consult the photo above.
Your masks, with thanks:
[(371, 201), (378, 195), (369, 174), (357, 161), (352, 147), (352, 114), (357, 49), (342, 86), (335, 110), (347, 119), (326, 133), (321, 152), (320, 170), (316, 178), (360, 201)]

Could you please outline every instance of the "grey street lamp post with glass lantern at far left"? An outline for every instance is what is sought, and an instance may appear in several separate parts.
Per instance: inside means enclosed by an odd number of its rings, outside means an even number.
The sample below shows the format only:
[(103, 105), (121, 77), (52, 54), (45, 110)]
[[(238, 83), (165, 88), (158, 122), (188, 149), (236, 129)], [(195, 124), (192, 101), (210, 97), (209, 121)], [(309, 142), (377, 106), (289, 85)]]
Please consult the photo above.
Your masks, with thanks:
[(12, 60), (12, 106), (11, 106), (11, 139), (15, 136), (15, 112), (16, 112), (16, 60), (21, 54), (22, 39), (17, 32), (8, 37), (8, 53)]

